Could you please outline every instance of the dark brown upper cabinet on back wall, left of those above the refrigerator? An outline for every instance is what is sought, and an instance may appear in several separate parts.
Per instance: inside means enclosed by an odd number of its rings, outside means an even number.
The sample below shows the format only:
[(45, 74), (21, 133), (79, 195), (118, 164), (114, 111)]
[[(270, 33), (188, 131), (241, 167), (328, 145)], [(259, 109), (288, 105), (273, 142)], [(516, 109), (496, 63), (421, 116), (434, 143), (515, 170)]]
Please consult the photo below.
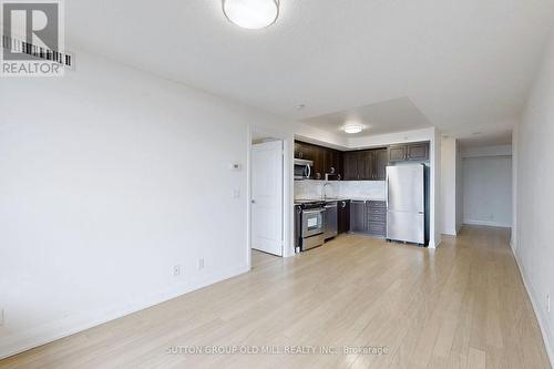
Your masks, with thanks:
[(350, 151), (342, 154), (346, 181), (384, 181), (387, 148)]

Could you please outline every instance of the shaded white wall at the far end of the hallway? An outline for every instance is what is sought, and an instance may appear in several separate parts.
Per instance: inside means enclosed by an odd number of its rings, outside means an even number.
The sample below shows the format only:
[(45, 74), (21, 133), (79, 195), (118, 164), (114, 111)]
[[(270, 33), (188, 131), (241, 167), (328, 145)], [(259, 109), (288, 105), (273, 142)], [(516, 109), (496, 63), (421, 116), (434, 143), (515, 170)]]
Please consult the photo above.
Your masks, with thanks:
[(512, 157), (463, 160), (463, 223), (512, 226)]

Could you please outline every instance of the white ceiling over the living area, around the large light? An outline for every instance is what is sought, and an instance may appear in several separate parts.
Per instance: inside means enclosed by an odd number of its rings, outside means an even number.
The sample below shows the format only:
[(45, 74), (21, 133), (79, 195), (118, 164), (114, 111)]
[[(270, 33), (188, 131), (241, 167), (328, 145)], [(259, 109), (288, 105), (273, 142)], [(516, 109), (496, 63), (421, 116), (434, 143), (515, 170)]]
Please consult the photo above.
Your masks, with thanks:
[(71, 0), (68, 41), (288, 119), (322, 115), (327, 130), (404, 101), (418, 113), (389, 112), (375, 132), (429, 122), (471, 141), (511, 129), (554, 16), (552, 0), (280, 2), (276, 24), (250, 31), (219, 0)]

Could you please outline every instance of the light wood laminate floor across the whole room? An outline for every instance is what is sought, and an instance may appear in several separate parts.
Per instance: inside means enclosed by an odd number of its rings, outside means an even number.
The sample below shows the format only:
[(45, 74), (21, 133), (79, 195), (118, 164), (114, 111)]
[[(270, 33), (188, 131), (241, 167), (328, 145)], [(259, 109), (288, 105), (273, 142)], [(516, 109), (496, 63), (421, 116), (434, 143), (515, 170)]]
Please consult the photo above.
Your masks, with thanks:
[(346, 235), (253, 265), (0, 367), (551, 368), (505, 229), (464, 227), (437, 250)]

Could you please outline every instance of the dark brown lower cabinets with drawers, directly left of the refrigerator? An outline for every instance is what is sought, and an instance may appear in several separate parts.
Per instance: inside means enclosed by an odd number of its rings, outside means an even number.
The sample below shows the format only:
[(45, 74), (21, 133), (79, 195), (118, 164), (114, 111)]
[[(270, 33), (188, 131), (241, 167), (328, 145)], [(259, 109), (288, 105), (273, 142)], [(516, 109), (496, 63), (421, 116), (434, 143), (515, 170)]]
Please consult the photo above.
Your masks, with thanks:
[(350, 232), (386, 237), (386, 203), (378, 201), (352, 201), (350, 204)]

